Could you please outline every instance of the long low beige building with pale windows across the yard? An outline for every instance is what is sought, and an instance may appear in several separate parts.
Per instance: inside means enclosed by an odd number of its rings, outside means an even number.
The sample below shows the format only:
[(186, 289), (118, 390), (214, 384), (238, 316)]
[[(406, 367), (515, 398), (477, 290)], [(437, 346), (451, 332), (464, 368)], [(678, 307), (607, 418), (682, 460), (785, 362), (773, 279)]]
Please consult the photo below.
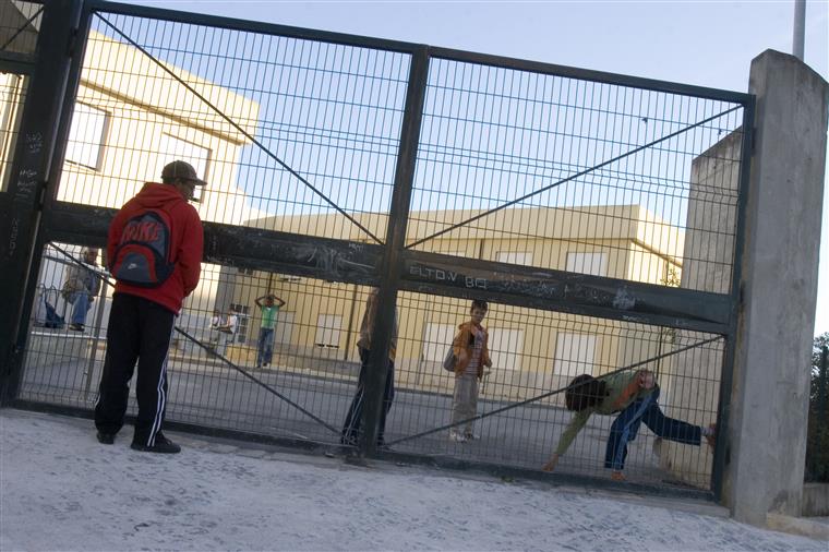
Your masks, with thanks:
[[(407, 242), (431, 235), (465, 218), (472, 211), (412, 212)], [(680, 285), (684, 235), (639, 205), (567, 208), (508, 208), (490, 215), (488, 228), (465, 228), (425, 243), (429, 251), (543, 268)], [(361, 214), (357, 220), (384, 235), (386, 215)], [(316, 236), (364, 240), (359, 228), (337, 214), (266, 217), (251, 226)], [(549, 238), (537, 237), (538, 229)], [(275, 332), (279, 362), (313, 370), (305, 358), (339, 361), (320, 365), (343, 372), (343, 363), (358, 361), (356, 341), (364, 310), (364, 287), (252, 271), (225, 271), (217, 304), (232, 307), (243, 321), (233, 356), (252, 363), (261, 320), (254, 299), (274, 292), (287, 304)], [(482, 299), (486, 299), (482, 296)], [(441, 361), (458, 324), (468, 320), (467, 301), (401, 292), (398, 296), (399, 339), (396, 383), (419, 389), (446, 391)], [(491, 304), (484, 325), (490, 332), (493, 370), (484, 396), (522, 399), (565, 385), (579, 373), (596, 375), (665, 352), (675, 334), (614, 321), (588, 319)], [(660, 369), (670, 370), (669, 360)], [(275, 362), (276, 363), (276, 362)], [(320, 364), (320, 363), (317, 363)], [(561, 397), (552, 399), (561, 401)]]

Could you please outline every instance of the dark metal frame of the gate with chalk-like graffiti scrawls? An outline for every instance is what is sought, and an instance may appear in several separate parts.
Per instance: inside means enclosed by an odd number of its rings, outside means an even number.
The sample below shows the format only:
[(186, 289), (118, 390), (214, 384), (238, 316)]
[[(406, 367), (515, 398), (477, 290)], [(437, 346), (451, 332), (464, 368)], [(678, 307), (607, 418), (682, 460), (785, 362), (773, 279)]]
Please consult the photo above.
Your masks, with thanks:
[[(11, 164), (11, 173), (20, 175), (21, 170), (35, 170), (37, 175), (34, 189), (25, 185), (20, 187), (17, 180), (12, 179), (9, 191), (0, 193), (0, 208), (3, 208), (8, 203), (9, 209), (9, 217), (4, 217), (2, 226), (0, 226), (0, 235), (3, 235), (2, 230), (7, 230), (7, 235), (10, 236), (8, 243), (0, 244), (0, 260), (4, 266), (0, 276), (0, 300), (3, 301), (3, 304), (13, 307), (7, 312), (14, 313), (14, 315), (0, 317), (0, 335), (11, 336), (10, 341), (3, 340), (2, 346), (0, 346), (0, 359), (3, 361), (3, 372), (0, 373), (0, 406), (16, 405), (38, 408), (37, 404), (19, 400), (17, 393), (23, 370), (23, 352), (28, 337), (27, 321), (38, 279), (40, 253), (44, 251), (45, 244), (48, 241), (57, 240), (101, 247), (106, 242), (109, 220), (116, 212), (110, 208), (62, 203), (56, 200), (55, 183), (59, 182), (63, 166), (70, 117), (80, 85), (81, 65), (88, 39), (89, 23), (97, 11), (375, 48), (410, 56), (404, 120), (384, 244), (374, 245), (340, 239), (254, 229), (245, 232), (244, 237), (240, 237), (233, 231), (235, 227), (232, 226), (214, 223), (205, 223), (204, 225), (206, 237), (204, 262), (237, 267), (255, 267), (380, 288), (377, 324), (372, 335), (372, 343), (376, 346), (372, 347), (367, 374), (368, 406), (363, 415), (367, 431), (363, 432), (363, 440), (360, 443), (359, 453), (361, 456), (406, 457), (409, 461), (426, 461), (429, 464), (435, 461), (418, 455), (380, 452), (375, 449), (374, 442), (382, 408), (386, 357), (392, 340), (392, 324), (395, 320), (397, 293), (400, 290), (406, 290), (466, 299), (477, 297), (478, 293), (474, 289), (462, 285), (447, 284), (428, 276), (429, 269), (452, 266), (472, 277), (485, 277), (494, 284), (500, 281), (524, 283), (525, 290), (520, 292), (507, 288), (497, 290), (497, 287), (495, 291), (488, 290), (488, 297), (504, 304), (601, 319), (624, 319), (634, 323), (710, 332), (723, 336), (725, 348), (720, 375), (717, 420), (719, 428), (718, 446), (714, 449), (711, 477), (711, 492), (717, 501), (721, 500), (722, 475), (728, 461), (728, 454), (724, 449), (725, 434), (730, 413), (736, 320), (740, 308), (738, 283), (745, 244), (745, 197), (749, 178), (755, 116), (755, 97), (753, 95), (412, 43), (122, 4), (105, 0), (56, 0), (48, 2), (44, 11), (41, 32), (38, 35), (34, 60), (27, 61), (21, 59), (19, 55), (0, 52), (0, 67), (16, 67), (21, 72), (28, 70), (31, 76), (28, 94), (22, 112), (19, 143), (15, 147), (14, 160)], [(528, 71), (741, 105), (743, 108), (743, 141), (730, 293), (664, 288), (651, 284), (589, 275), (574, 276), (572, 273), (563, 271), (458, 259), (407, 248), (405, 243), (406, 227), (432, 59)], [(40, 85), (41, 82), (49, 82), (56, 76), (59, 81), (58, 86)], [(49, 110), (34, 109), (34, 106), (43, 105), (51, 107)], [(32, 153), (24, 147), (24, 137), (36, 132), (41, 132), (46, 140), (44, 140), (43, 149)], [(303, 250), (308, 244), (313, 244), (335, 260), (356, 260), (357, 264), (380, 266), (380, 269), (353, 268), (352, 266), (356, 265), (352, 263), (347, 263), (348, 268), (335, 266), (333, 271), (324, 269), (304, 259), (300, 248), (297, 247), (298, 243), (303, 244)], [(349, 247), (353, 244), (359, 247)], [(336, 265), (336, 263), (334, 264)], [(562, 284), (565, 279), (570, 286), (570, 292)], [(553, 291), (551, 292), (550, 289)], [(612, 298), (622, 290), (645, 307), (634, 311), (622, 310), (613, 305)], [(580, 291), (592, 292), (591, 300), (586, 301), (579, 295)], [(682, 314), (677, 315), (676, 312)], [(40, 405), (40, 408), (64, 413), (74, 411), (74, 409), (56, 407), (55, 405)], [(190, 427), (190, 430), (197, 430), (197, 427)], [(225, 432), (206, 427), (202, 430), (208, 434), (237, 434), (237, 436), (241, 435), (244, 439), (255, 440), (250, 434), (242, 432)], [(272, 441), (264, 437), (263, 440)], [(449, 460), (448, 464), (465, 467), (485, 466), (485, 470), (489, 472), (521, 473), (521, 477), (529, 477), (528, 472), (532, 473), (532, 470), (504, 466), (493, 467), (483, 463)], [(572, 476), (552, 477), (556, 479), (564, 477), (570, 481), (580, 479)], [(597, 478), (587, 479), (590, 480), (591, 484), (600, 481)], [(641, 487), (639, 484), (633, 485)]]

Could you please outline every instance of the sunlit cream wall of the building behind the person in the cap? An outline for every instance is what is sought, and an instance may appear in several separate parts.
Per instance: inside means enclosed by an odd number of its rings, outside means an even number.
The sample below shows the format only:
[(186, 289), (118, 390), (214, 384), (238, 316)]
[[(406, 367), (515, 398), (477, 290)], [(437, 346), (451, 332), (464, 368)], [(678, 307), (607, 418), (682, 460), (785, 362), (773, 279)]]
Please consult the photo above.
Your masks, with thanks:
[[(175, 65), (166, 67), (245, 132), (255, 133), (255, 101)], [(207, 187), (195, 204), (203, 220), (241, 225), (261, 216), (237, 182), (241, 148), (250, 141), (137, 49), (91, 33), (77, 101), (106, 111), (103, 147), (95, 168), (64, 164), (58, 200), (120, 207), (144, 182), (160, 180), (163, 166), (172, 160), (161, 149), (167, 134), (209, 151), (202, 176)], [(218, 281), (219, 268), (203, 265), (199, 288), (187, 304), (212, 309)]]

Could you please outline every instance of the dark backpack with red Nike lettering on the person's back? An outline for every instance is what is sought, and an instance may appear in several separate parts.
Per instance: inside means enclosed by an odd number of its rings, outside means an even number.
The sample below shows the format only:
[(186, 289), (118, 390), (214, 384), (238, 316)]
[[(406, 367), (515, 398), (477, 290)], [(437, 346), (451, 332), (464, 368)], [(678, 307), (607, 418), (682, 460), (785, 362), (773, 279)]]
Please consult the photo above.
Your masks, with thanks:
[(176, 268), (170, 262), (170, 218), (164, 211), (135, 215), (123, 227), (109, 272), (118, 281), (133, 286), (160, 286)]

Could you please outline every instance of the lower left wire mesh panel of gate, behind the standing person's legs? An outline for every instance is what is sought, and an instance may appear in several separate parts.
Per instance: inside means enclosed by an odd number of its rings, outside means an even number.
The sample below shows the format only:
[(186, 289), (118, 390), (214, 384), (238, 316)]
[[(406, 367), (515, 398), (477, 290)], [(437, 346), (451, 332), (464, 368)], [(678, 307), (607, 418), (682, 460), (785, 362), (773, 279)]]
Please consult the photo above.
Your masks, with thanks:
[[(113, 283), (87, 262), (88, 249), (47, 248), (22, 398), (87, 408), (95, 403)], [(73, 291), (84, 279), (98, 288)], [(83, 293), (93, 300), (73, 297)], [(259, 304), (272, 293), (285, 304), (263, 336)], [(346, 344), (359, 331), (355, 309), (364, 296), (358, 286), (204, 265), (170, 343), (167, 418), (339, 443), (359, 371), (357, 351)], [(134, 397), (130, 408), (134, 412)]]

